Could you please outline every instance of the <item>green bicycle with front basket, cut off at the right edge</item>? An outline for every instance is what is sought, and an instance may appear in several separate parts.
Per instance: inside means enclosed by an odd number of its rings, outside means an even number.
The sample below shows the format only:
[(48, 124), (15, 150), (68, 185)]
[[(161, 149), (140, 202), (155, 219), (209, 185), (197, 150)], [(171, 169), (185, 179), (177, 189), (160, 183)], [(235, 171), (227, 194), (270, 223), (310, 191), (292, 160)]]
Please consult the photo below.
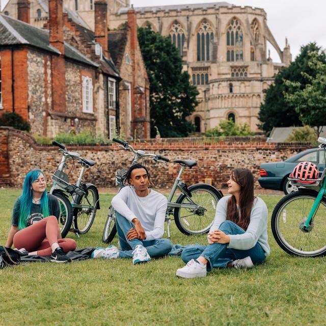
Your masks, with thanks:
[[(326, 157), (326, 139), (318, 138), (318, 151)], [(271, 215), (271, 230), (279, 246), (288, 254), (301, 257), (326, 255), (326, 169), (312, 183), (289, 178), (298, 187), (283, 197)]]

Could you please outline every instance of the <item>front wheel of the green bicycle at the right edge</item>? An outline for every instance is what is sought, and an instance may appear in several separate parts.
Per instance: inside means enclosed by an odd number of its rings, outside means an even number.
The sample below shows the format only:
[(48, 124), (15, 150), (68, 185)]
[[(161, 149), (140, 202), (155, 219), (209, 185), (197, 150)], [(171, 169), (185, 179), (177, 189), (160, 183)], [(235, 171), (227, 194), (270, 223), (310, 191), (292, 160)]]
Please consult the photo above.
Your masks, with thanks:
[(302, 257), (326, 255), (326, 201), (320, 202), (308, 231), (302, 230), (317, 192), (300, 190), (283, 197), (271, 215), (271, 230), (279, 246), (288, 254)]

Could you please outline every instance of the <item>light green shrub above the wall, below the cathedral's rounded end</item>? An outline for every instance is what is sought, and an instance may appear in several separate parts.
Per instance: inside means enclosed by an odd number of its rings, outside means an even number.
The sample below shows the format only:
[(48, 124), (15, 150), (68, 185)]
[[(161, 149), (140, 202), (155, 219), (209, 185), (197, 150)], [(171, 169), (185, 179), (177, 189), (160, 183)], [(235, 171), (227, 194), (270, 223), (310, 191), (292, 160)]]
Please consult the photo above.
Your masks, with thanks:
[(208, 129), (205, 133), (206, 137), (220, 136), (252, 136), (255, 132), (251, 132), (248, 123), (235, 124), (231, 119), (222, 120), (219, 126)]

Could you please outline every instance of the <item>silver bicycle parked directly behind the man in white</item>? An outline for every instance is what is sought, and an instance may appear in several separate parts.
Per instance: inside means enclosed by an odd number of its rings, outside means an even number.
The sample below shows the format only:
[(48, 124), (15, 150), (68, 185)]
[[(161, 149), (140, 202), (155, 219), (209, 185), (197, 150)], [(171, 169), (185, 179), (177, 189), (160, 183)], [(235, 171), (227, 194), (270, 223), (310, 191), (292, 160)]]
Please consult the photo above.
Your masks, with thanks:
[[(113, 139), (117, 142), (118, 146), (129, 150), (135, 154), (131, 165), (137, 163), (140, 158), (152, 157), (156, 162), (162, 162), (166, 164), (170, 160), (164, 156), (156, 155), (152, 153), (146, 153), (142, 150), (134, 150), (127, 142), (123, 142), (117, 139)], [(216, 205), (218, 201), (223, 197), (220, 191), (212, 185), (205, 183), (197, 183), (191, 186), (187, 186), (182, 180), (181, 175), (185, 168), (192, 168), (197, 165), (194, 160), (181, 160), (176, 159), (173, 161), (181, 166), (178, 176), (172, 186), (171, 192), (168, 196), (168, 208), (166, 212), (166, 222), (168, 223), (168, 237), (170, 234), (170, 225), (172, 219), (170, 216), (174, 216), (174, 221), (177, 228), (186, 235), (207, 233), (213, 223)], [(125, 177), (128, 169), (122, 169), (116, 172), (116, 185), (119, 186), (119, 191), (125, 185)], [(175, 202), (172, 201), (176, 190), (179, 189), (181, 194)], [(110, 206), (102, 241), (109, 243), (116, 235), (117, 229), (115, 225), (115, 210)]]

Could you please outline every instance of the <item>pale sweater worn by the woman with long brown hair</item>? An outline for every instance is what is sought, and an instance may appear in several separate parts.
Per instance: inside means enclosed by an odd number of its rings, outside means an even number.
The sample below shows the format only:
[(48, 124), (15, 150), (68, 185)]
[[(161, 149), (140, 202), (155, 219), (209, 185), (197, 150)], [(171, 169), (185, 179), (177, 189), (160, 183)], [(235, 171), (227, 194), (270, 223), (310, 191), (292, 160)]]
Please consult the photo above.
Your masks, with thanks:
[[(226, 210), (230, 197), (226, 196), (219, 200), (216, 206), (214, 222), (209, 232), (218, 230), (221, 223), (226, 221)], [(267, 218), (268, 212), (265, 202), (259, 197), (255, 198), (247, 231), (243, 234), (229, 234), (230, 242), (228, 243), (228, 248), (248, 250), (255, 247), (258, 242), (265, 256), (268, 256), (270, 254), (270, 248), (267, 242)]]

